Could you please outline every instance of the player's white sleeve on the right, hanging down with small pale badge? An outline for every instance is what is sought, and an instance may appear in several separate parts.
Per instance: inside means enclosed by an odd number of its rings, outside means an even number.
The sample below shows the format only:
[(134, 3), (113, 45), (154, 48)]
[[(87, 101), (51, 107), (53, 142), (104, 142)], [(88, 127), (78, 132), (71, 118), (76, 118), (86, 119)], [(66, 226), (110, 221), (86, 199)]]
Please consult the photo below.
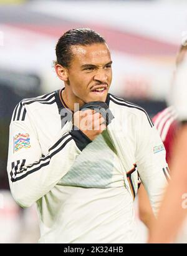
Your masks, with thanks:
[(142, 113), (137, 135), (136, 160), (141, 182), (156, 214), (170, 178), (163, 142), (146, 113)]

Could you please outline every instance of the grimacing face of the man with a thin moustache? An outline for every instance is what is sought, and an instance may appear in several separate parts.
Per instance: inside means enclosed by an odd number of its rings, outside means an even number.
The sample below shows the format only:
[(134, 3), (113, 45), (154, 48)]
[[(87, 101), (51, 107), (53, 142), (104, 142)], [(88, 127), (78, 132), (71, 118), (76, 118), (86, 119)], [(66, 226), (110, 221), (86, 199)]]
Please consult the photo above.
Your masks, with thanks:
[(68, 68), (69, 93), (74, 100), (105, 101), (112, 82), (110, 51), (104, 43), (72, 46)]

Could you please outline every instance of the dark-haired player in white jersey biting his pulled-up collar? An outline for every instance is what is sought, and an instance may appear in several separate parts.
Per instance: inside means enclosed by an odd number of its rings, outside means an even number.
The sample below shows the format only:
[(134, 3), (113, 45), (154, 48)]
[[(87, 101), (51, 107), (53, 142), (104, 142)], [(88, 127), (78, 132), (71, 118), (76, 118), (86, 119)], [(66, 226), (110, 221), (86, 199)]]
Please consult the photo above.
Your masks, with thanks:
[(22, 100), (12, 115), (12, 195), (37, 203), (41, 243), (140, 242), (137, 168), (156, 213), (168, 178), (160, 136), (143, 108), (108, 93), (112, 60), (99, 34), (71, 29), (56, 54), (65, 88)]

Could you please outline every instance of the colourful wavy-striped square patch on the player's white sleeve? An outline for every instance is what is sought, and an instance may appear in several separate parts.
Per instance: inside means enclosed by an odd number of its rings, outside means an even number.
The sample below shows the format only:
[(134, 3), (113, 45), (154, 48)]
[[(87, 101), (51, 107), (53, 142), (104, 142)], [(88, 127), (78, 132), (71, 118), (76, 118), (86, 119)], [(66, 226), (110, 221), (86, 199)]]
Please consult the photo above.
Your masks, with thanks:
[(28, 133), (18, 133), (13, 137), (13, 140), (14, 140), (14, 152), (17, 152), (22, 148), (31, 148), (30, 137)]

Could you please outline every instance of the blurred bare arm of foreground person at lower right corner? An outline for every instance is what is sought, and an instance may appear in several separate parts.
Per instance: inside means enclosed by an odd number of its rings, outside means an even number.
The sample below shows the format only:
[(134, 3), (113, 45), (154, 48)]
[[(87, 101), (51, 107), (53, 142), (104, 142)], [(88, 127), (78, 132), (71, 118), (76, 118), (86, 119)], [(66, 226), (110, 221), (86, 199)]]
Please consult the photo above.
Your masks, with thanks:
[(149, 243), (170, 243), (187, 213), (187, 125), (178, 131), (171, 158), (171, 181), (161, 204)]

